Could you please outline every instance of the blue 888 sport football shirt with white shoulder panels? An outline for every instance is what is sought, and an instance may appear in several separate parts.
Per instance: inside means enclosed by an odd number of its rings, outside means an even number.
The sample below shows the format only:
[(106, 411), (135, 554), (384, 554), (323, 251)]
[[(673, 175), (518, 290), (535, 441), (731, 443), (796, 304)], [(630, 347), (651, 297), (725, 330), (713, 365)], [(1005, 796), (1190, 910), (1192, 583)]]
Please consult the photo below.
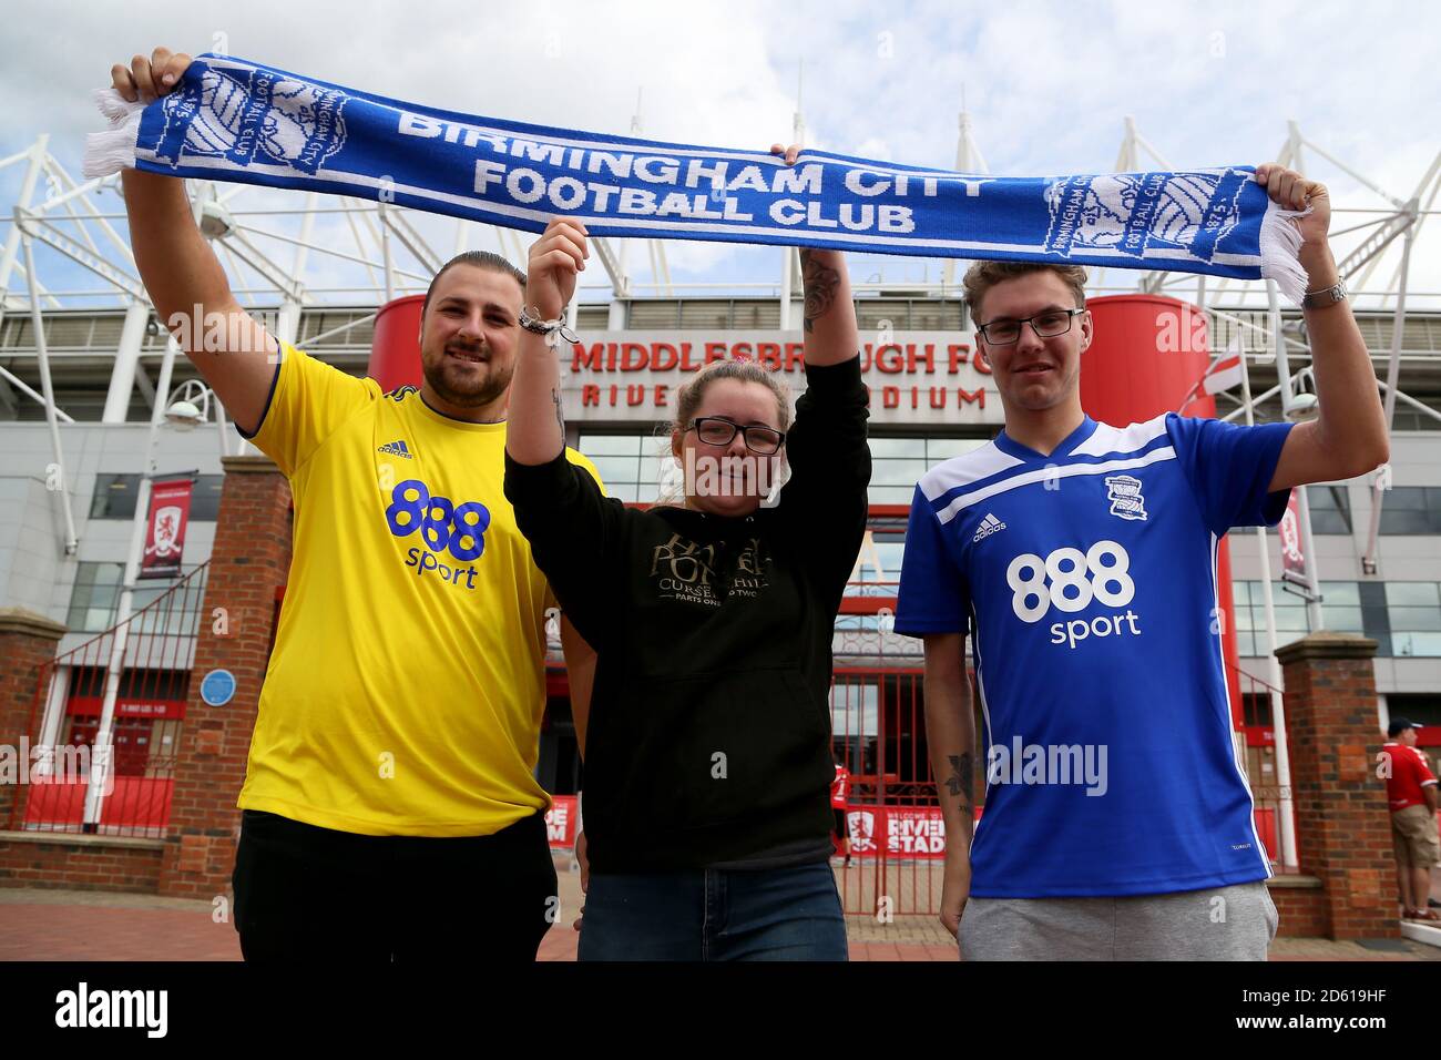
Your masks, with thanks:
[(1166, 894), (1265, 880), (1231, 737), (1216, 547), (1274, 525), (1291, 424), (1089, 417), (931, 469), (895, 629), (971, 633), (986, 812), (971, 894)]

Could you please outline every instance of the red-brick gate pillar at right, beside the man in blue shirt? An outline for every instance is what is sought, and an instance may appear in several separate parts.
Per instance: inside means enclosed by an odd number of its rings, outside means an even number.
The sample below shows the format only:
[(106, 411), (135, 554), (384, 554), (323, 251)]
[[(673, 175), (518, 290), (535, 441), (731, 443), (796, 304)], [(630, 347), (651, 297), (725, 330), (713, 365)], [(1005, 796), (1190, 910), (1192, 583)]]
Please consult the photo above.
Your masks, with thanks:
[(1396, 939), (1396, 865), (1386, 783), (1376, 777), (1376, 642), (1311, 633), (1278, 648), (1285, 681), (1295, 842), (1324, 887), (1333, 939)]

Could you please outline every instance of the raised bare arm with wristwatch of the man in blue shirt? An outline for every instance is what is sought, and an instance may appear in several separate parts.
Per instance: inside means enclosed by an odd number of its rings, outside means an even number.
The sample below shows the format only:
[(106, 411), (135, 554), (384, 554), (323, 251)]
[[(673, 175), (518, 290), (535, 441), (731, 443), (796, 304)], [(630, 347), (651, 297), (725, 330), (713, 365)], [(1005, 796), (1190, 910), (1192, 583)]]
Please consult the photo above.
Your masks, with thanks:
[[(1281, 166), (1257, 166), (1257, 183), (1272, 202), (1311, 212), (1298, 219), (1301, 267), (1307, 293), (1326, 291), (1340, 281), (1327, 229), (1331, 221), (1326, 186)], [(1391, 438), (1376, 369), (1349, 301), (1306, 309), (1316, 372), (1316, 420), (1291, 428), (1271, 477), (1271, 492), (1308, 482), (1355, 479), (1391, 459)]]

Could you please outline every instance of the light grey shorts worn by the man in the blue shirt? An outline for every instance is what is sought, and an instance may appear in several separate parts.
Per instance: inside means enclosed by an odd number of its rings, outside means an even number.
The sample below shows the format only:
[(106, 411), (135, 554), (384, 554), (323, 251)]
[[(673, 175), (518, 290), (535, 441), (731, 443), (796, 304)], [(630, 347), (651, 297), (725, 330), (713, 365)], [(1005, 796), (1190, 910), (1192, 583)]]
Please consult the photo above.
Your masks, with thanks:
[(963, 960), (1265, 960), (1264, 883), (1127, 898), (971, 898)]

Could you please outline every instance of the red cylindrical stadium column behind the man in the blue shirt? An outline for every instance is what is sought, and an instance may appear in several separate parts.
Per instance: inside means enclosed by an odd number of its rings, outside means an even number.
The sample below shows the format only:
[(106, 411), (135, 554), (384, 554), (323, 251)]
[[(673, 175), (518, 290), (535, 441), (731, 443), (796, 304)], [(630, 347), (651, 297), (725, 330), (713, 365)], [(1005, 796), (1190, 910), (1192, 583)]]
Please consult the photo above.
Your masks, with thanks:
[[(1166, 411), (1180, 411), (1210, 363), (1206, 314), (1189, 301), (1156, 294), (1089, 299), (1095, 322), (1091, 348), (1081, 355), (1081, 407), (1099, 423), (1124, 427)], [(1183, 415), (1215, 417), (1216, 399), (1200, 392)], [(1231, 552), (1221, 539), (1216, 596), (1222, 610), (1221, 646), (1226, 659), (1232, 721), (1241, 710), (1241, 653), (1231, 594)]]

